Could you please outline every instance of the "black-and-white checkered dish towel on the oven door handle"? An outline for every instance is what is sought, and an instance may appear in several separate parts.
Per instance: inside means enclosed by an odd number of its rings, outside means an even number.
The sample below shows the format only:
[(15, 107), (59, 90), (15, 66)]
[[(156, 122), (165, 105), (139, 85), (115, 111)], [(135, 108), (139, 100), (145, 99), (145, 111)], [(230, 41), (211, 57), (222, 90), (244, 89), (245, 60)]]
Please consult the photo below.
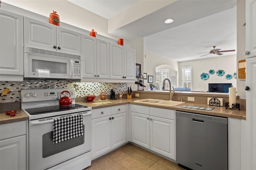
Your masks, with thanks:
[(54, 119), (54, 144), (83, 135), (83, 115), (74, 115), (70, 117)]

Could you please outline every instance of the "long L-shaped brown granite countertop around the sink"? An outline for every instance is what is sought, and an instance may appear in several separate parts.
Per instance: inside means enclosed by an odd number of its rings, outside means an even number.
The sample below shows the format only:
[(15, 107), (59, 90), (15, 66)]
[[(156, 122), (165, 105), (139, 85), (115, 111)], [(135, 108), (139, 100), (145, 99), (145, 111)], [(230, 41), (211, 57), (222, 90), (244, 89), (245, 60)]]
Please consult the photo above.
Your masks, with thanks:
[[(214, 107), (214, 109), (212, 111), (206, 111), (206, 110), (199, 110), (199, 109), (183, 108), (182, 106), (196, 105), (196, 106), (209, 107), (209, 105), (197, 104), (197, 103), (184, 103), (184, 104), (177, 105), (177, 106), (163, 106), (163, 105), (160, 106), (160, 105), (151, 104), (151, 103), (137, 103), (137, 102), (134, 102), (135, 100), (140, 100), (140, 98), (108, 100), (108, 101), (115, 102), (115, 103), (107, 104), (107, 105), (94, 105), (94, 104), (87, 103), (87, 102), (78, 102), (78, 104), (92, 107), (92, 109), (98, 109), (98, 108), (102, 108), (102, 107), (111, 107), (111, 106), (124, 105), (124, 104), (130, 103), (130, 104), (135, 104), (135, 105), (158, 107), (158, 108), (163, 108), (163, 109), (172, 109), (172, 110), (176, 110), (176, 111), (184, 111), (184, 112), (199, 113), (199, 114), (204, 114), (204, 115), (230, 117), (230, 118), (246, 120), (246, 111), (242, 111), (242, 110), (239, 111), (238, 109), (225, 109), (224, 106), (222, 106), (222, 107), (211, 106), (211, 107)], [(100, 101), (94, 101), (94, 103), (100, 103)]]

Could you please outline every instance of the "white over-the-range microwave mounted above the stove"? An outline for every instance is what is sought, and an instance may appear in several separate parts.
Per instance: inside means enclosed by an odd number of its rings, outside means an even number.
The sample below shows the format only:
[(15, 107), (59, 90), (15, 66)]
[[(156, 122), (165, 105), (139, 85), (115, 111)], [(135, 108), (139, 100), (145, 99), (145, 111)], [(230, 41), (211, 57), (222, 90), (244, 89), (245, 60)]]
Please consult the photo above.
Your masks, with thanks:
[(24, 47), (24, 78), (82, 79), (81, 56)]

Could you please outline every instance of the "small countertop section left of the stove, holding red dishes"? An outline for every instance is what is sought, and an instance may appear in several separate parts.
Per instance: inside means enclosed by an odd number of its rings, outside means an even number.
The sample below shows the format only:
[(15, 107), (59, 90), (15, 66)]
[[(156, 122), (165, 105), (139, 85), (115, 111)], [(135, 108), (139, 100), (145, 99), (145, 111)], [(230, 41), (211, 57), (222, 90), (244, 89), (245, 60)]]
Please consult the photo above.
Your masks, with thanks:
[(10, 115), (6, 115), (5, 112), (7, 111), (0, 111), (0, 125), (5, 123), (12, 123), (18, 121), (26, 121), (28, 120), (28, 115), (22, 111), (22, 109), (15, 109), (16, 115), (11, 117)]

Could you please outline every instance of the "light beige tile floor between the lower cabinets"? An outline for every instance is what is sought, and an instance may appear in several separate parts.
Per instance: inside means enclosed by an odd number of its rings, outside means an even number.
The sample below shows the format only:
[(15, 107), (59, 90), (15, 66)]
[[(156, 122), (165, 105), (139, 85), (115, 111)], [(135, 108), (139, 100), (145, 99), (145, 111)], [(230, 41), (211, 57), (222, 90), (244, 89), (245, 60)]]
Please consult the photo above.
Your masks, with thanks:
[(178, 164), (128, 143), (95, 160), (84, 170), (184, 170)]

